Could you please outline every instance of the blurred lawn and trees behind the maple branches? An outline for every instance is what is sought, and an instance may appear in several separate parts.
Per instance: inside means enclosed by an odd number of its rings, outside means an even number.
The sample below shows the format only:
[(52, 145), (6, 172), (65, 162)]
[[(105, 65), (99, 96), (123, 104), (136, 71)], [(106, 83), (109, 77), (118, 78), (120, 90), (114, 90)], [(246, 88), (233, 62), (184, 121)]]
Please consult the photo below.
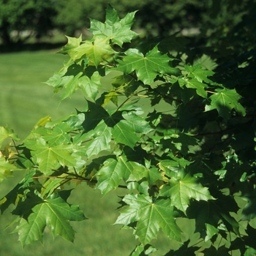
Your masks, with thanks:
[[(105, 20), (105, 9), (110, 3), (120, 18), (138, 10), (133, 29), (140, 39), (168, 37), (177, 34), (189, 40), (189, 57), (194, 45), (203, 53), (211, 49), (212, 59), (232, 61), (244, 51), (255, 49), (255, 0), (0, 0), (0, 126), (8, 124), (20, 138), (26, 138), (39, 118), (60, 118), (83, 109), (83, 95), (59, 103), (50, 86), (43, 84), (53, 72), (58, 72), (67, 56), (56, 52), (69, 37), (91, 37), (87, 30), (90, 20)], [(136, 40), (135, 40), (136, 41)], [(124, 45), (125, 47), (125, 45)], [(220, 54), (221, 53), (221, 54)], [(198, 52), (196, 53), (198, 54)], [(218, 59), (225, 56), (225, 60)], [(200, 57), (200, 56), (197, 56)], [(110, 86), (111, 76), (102, 80)], [(4, 181), (0, 197), (18, 182)], [(4, 230), (12, 220), (7, 212), (0, 216), (0, 255), (129, 255), (138, 243), (127, 230), (113, 225), (118, 211), (118, 197), (122, 191), (102, 197), (99, 191), (81, 184), (70, 201), (80, 203), (89, 220), (74, 224), (75, 244), (52, 236), (45, 230), (44, 246), (35, 243), (21, 249), (13, 228)], [(7, 211), (12, 211), (8, 209)], [(170, 249), (160, 236), (159, 252)]]

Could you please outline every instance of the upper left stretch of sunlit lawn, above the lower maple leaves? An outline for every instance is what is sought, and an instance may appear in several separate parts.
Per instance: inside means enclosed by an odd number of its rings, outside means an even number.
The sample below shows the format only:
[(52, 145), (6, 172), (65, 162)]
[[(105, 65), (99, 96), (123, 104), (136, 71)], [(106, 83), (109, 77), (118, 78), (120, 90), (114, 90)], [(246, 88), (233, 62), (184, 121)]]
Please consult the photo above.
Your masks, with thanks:
[(67, 56), (54, 51), (1, 54), (0, 58), (0, 125), (9, 125), (21, 138), (28, 135), (39, 118), (59, 118), (83, 108), (80, 94), (59, 104), (59, 95), (44, 84), (59, 71)]

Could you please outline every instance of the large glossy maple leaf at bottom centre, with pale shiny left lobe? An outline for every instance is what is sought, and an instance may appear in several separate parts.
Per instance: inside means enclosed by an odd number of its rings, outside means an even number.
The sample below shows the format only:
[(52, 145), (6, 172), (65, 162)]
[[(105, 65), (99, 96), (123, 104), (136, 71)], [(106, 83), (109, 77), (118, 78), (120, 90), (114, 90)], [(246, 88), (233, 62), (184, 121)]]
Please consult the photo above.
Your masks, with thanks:
[(176, 225), (169, 199), (152, 202), (148, 195), (126, 195), (123, 200), (129, 207), (121, 212), (115, 224), (127, 226), (137, 222), (135, 235), (143, 245), (157, 238), (159, 229), (170, 239), (181, 241), (181, 230)]

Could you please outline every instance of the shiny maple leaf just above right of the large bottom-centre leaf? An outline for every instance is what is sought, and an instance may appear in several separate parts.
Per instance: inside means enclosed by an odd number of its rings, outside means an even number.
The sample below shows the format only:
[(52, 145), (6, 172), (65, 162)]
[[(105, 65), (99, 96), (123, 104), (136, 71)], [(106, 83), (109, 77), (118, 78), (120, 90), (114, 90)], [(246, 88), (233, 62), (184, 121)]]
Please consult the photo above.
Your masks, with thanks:
[(159, 195), (170, 197), (171, 206), (176, 206), (184, 214), (186, 214), (189, 200), (192, 198), (197, 201), (214, 199), (208, 192), (208, 188), (203, 187), (198, 179), (192, 177), (189, 173), (182, 175), (178, 179), (171, 178), (169, 184), (162, 187)]

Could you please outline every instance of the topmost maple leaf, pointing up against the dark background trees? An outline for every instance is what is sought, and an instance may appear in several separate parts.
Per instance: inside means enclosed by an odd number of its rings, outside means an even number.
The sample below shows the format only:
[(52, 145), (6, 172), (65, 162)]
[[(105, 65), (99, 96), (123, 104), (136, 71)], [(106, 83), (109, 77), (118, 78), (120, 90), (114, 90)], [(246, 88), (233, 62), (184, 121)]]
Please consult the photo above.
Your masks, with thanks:
[(116, 45), (122, 47), (124, 42), (131, 42), (131, 40), (138, 35), (131, 30), (135, 13), (136, 12), (130, 12), (120, 20), (116, 10), (108, 4), (105, 23), (90, 19), (91, 28), (89, 30), (92, 34), (111, 39)]

